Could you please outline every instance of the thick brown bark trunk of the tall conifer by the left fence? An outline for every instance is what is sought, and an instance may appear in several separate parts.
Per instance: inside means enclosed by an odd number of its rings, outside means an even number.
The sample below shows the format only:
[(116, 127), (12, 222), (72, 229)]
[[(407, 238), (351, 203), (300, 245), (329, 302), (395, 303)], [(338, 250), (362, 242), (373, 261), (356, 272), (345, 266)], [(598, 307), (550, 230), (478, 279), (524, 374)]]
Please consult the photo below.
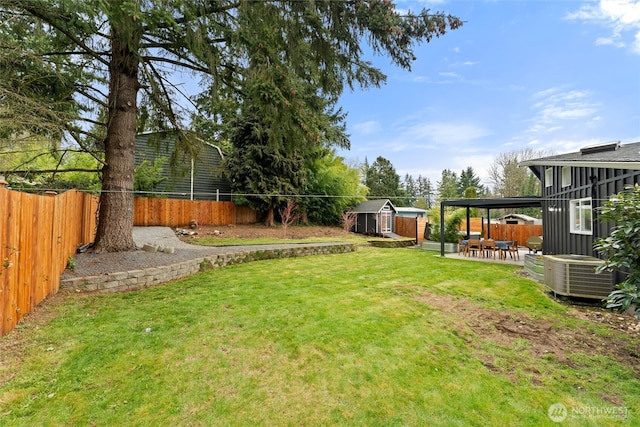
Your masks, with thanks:
[[(119, 2), (112, 3), (114, 10)], [(117, 12), (116, 12), (117, 13)], [(124, 17), (123, 22), (126, 22)], [(118, 22), (119, 20), (114, 20)], [(136, 248), (133, 241), (133, 175), (137, 118), (139, 29), (129, 22), (112, 22), (109, 65), (109, 122), (105, 139), (96, 252)]]

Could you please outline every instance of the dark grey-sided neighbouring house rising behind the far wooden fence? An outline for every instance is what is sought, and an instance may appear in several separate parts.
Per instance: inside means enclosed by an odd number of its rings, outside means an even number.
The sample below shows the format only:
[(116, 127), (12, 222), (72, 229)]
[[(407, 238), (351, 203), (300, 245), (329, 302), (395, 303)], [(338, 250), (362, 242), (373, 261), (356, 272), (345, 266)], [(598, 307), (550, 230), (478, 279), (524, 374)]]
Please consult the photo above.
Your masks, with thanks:
[[(136, 170), (146, 160), (164, 159), (164, 181), (149, 195), (187, 200), (231, 200), (231, 185), (222, 175), (224, 154), (219, 147), (196, 138), (194, 150), (172, 132), (147, 132), (136, 136)], [(144, 194), (139, 194), (145, 196)]]

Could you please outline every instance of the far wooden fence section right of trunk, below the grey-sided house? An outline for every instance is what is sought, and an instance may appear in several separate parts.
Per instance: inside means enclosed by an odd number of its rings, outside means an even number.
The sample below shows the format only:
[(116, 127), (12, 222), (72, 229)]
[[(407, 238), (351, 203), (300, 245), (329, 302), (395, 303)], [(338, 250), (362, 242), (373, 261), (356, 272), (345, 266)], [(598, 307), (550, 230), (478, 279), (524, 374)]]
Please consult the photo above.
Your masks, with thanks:
[(209, 200), (177, 200), (137, 197), (133, 223), (137, 226), (160, 225), (180, 227), (196, 220), (199, 225), (253, 224), (257, 213), (233, 202)]

